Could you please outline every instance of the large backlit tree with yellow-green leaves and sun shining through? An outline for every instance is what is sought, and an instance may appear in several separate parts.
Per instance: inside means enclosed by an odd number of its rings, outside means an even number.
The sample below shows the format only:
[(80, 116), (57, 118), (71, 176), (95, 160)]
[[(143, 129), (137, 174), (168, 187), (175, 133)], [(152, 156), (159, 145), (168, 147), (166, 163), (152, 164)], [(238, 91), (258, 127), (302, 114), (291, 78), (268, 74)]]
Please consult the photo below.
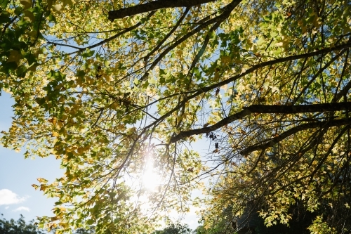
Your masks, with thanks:
[[(16, 101), (1, 143), (66, 169), (34, 185), (59, 199), (41, 225), (151, 230), (209, 176), (205, 228), (224, 207), (289, 223), (298, 202), (319, 214), (312, 233), (347, 231), (350, 13), (340, 0), (3, 1), (1, 35), (27, 47), (1, 47)], [(205, 137), (199, 157), (188, 143)], [(154, 189), (138, 180), (150, 171)]]

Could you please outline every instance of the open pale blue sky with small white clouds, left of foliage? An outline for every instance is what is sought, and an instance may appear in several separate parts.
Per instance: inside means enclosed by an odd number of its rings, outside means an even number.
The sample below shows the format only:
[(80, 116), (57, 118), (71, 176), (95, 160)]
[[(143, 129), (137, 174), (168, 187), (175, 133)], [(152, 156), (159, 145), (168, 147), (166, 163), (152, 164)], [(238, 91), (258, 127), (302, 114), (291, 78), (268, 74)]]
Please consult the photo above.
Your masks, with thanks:
[[(0, 96), (0, 131), (6, 131), (11, 126), (13, 116), (10, 94), (2, 91)], [(60, 162), (54, 157), (27, 159), (22, 152), (15, 152), (0, 145), (0, 214), (5, 219), (15, 219), (20, 214), (26, 220), (36, 216), (51, 216), (55, 199), (47, 198), (39, 190), (31, 186), (38, 183), (37, 178), (53, 181), (63, 174)]]

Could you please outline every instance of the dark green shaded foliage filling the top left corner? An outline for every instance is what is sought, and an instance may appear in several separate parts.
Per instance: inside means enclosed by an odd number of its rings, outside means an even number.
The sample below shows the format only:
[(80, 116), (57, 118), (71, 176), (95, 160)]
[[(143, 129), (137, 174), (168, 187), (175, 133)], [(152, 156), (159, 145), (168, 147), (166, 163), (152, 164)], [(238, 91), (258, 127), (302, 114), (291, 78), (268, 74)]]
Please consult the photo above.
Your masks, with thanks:
[(36, 45), (43, 39), (47, 16), (53, 17), (50, 6), (43, 6), (40, 0), (0, 2), (0, 95), (1, 89), (18, 86), (39, 65), (41, 48)]

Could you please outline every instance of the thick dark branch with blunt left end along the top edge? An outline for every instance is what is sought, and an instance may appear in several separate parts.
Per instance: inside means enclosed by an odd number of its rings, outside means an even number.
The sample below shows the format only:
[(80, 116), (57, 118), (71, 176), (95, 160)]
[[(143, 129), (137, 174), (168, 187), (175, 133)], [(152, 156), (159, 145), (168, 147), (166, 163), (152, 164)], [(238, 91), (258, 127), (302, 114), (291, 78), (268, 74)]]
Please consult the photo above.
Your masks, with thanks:
[(138, 15), (140, 13), (145, 13), (149, 11), (156, 11), (161, 8), (174, 8), (174, 7), (187, 7), (190, 8), (192, 6), (196, 6), (199, 4), (206, 4), (211, 1), (216, 0), (158, 0), (158, 1), (150, 1), (146, 4), (140, 4), (136, 6), (131, 6), (128, 8), (121, 8), (116, 11), (109, 11), (108, 19), (116, 20), (121, 19), (126, 16)]

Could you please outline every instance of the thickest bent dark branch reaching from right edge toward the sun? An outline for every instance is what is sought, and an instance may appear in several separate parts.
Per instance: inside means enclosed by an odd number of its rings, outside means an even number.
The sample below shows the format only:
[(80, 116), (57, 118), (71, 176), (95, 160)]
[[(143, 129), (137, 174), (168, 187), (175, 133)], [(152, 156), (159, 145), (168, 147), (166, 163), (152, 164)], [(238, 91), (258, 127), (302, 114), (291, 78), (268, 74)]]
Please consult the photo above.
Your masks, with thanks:
[[(307, 112), (329, 112), (338, 110), (351, 110), (351, 102), (348, 103), (324, 103), (324, 104), (314, 104), (314, 105), (250, 105), (244, 108), (241, 112), (230, 115), (220, 122), (213, 124), (212, 126), (204, 127), (201, 129), (193, 129), (189, 131), (180, 131), (176, 136), (171, 137), (170, 143), (175, 143), (185, 137), (199, 134), (206, 134), (211, 131), (215, 131), (230, 124), (238, 119), (243, 119), (251, 113), (265, 113), (265, 114), (297, 114), (297, 113), (307, 113)], [(317, 124), (319, 124), (318, 122)], [(312, 123), (316, 124), (316, 123)], [(301, 125), (302, 126), (302, 125)]]

